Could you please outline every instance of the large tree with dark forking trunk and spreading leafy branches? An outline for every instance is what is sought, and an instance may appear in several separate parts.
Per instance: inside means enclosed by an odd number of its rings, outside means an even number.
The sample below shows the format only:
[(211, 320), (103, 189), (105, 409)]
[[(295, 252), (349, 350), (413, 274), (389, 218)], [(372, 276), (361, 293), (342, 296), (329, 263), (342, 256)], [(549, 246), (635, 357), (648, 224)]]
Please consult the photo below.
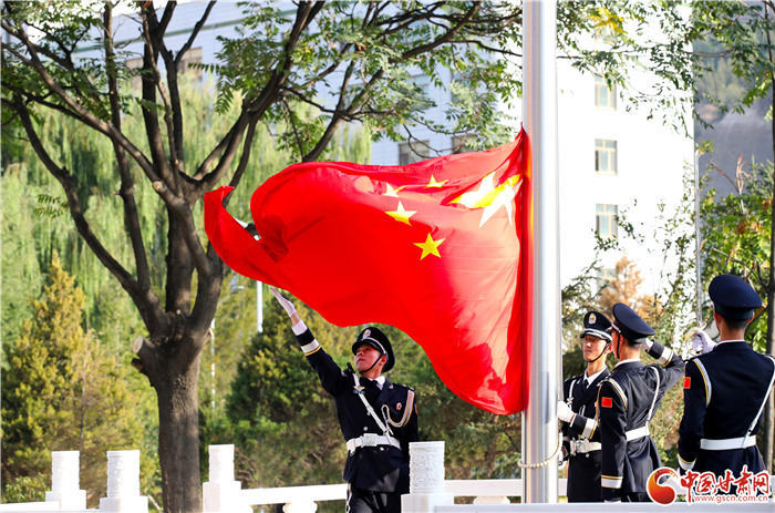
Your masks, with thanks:
[[(96, 257), (94, 265), (104, 266), (132, 299), (147, 331), (136, 366), (158, 399), (164, 505), (170, 512), (197, 511), (197, 380), (226, 270), (197, 225), (203, 195), (227, 179), (240, 183), (251, 170), (252, 143), (267, 126), (278, 130), (279, 146), (306, 162), (320, 158), (338, 129), (350, 122), (369, 123), (375, 138), (411, 141), (414, 126), (423, 125), (451, 135), (474, 134), (478, 146), (503, 141), (498, 102), (520, 94), (516, 63), (507, 60), (518, 57), (521, 9), (507, 1), (299, 2), (291, 11), (247, 3), (239, 37), (221, 40), (221, 62), (203, 66), (217, 82), (210, 132), (220, 138), (209, 144), (187, 135), (185, 126), (198, 120), (182, 94), (185, 80), (178, 69), (213, 3), (179, 49), (165, 41), (176, 2), (163, 11), (153, 2), (135, 6), (144, 42), (140, 70), (126, 66), (134, 55), (113, 40), (112, 3), (4, 2), (3, 136), (24, 134), (61, 186), (51, 194), (59, 198), (58, 209), (66, 205), (84, 246)], [(626, 85), (630, 70), (648, 65), (661, 80), (654, 91), (624, 88), (632, 91), (632, 101), (657, 102), (660, 113), (680, 107), (664, 94), (691, 84), (679, 4), (561, 2), (558, 20), (560, 47), (580, 69)], [(670, 28), (659, 43), (640, 35), (657, 25)], [(585, 50), (585, 38), (603, 29), (611, 31), (611, 47)], [(32, 31), (41, 38), (31, 38)], [(84, 45), (102, 49), (101, 58), (74, 60), (73, 51)], [(414, 70), (455, 93), (444, 125), (426, 115), (433, 102), (411, 78)], [(445, 84), (448, 73), (459, 80)], [(133, 78), (142, 81), (138, 95), (125, 86)], [(321, 100), (327, 92), (331, 103)], [(144, 129), (140, 135), (126, 130), (136, 105)], [(108, 142), (100, 156), (112, 164), (104, 184), (117, 189), (122, 202), (126, 238), (120, 247), (96, 229), (105, 211), (90, 208), (94, 158), (83, 166), (69, 163), (66, 141), (41, 136), (49, 130), (40, 122), (42, 113), (51, 111)], [(144, 229), (146, 204), (157, 212), (153, 234), (165, 237), (158, 246)]]

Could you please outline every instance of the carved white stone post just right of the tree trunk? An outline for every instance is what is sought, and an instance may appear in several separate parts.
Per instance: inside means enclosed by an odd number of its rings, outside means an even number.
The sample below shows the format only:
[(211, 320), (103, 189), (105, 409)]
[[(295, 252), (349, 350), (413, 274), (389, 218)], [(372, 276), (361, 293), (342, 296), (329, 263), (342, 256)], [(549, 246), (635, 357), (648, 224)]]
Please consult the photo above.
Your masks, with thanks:
[(240, 504), (242, 483), (234, 479), (234, 445), (210, 445), (210, 480), (202, 484), (202, 504), (207, 513), (251, 513)]

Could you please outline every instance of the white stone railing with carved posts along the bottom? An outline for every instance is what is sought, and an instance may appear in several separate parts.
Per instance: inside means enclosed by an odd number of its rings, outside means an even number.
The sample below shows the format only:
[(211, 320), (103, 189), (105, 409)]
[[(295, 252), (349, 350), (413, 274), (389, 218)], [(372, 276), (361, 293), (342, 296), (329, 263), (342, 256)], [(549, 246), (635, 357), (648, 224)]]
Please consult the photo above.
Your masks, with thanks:
[[(344, 501), (347, 483), (312, 486), (242, 490), (234, 478), (234, 445), (210, 445), (209, 481), (202, 486), (205, 513), (250, 513), (250, 505), (283, 504), (285, 513), (314, 513), (317, 502)], [(410, 443), (410, 493), (401, 497), (403, 513), (632, 513), (663, 512), (665, 506), (640, 504), (512, 504), (509, 496), (521, 496), (521, 480), (444, 479), (444, 442)], [(773, 480), (775, 481), (775, 479)], [(560, 480), (565, 495), (567, 481)], [(456, 496), (473, 496), (474, 504), (455, 504)], [(772, 501), (772, 499), (771, 499)], [(691, 513), (772, 513), (773, 502), (744, 504), (674, 503), (671, 511)], [(86, 510), (86, 492), (80, 490), (79, 452), (52, 452), (51, 491), (45, 502), (0, 504), (0, 512), (147, 513), (148, 499), (140, 495), (140, 451), (107, 452), (107, 497), (100, 500), (100, 510)]]

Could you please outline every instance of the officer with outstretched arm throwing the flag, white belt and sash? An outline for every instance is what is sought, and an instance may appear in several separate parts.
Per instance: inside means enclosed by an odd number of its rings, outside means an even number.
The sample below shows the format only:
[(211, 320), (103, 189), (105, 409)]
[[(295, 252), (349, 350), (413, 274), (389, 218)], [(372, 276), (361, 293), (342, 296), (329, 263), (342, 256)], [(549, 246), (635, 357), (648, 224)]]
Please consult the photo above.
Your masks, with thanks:
[(348, 448), (343, 474), (349, 483), (347, 512), (400, 513), (401, 495), (409, 493), (409, 442), (420, 437), (414, 390), (382, 376), (395, 365), (390, 340), (379, 328), (364, 329), (352, 345), (358, 372), (349, 365), (342, 370), (323, 351), (293, 305), (277, 290), (272, 294), (290, 316), (307, 361), (320, 376), (323, 389), (333, 396)]

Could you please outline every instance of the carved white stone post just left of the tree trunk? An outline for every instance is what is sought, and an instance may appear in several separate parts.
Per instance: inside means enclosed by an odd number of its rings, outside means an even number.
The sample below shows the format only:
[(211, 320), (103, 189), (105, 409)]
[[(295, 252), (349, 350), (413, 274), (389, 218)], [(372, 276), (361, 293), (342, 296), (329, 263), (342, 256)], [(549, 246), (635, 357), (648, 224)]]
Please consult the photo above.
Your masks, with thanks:
[(100, 511), (147, 513), (148, 497), (140, 495), (140, 451), (107, 451), (107, 496)]

